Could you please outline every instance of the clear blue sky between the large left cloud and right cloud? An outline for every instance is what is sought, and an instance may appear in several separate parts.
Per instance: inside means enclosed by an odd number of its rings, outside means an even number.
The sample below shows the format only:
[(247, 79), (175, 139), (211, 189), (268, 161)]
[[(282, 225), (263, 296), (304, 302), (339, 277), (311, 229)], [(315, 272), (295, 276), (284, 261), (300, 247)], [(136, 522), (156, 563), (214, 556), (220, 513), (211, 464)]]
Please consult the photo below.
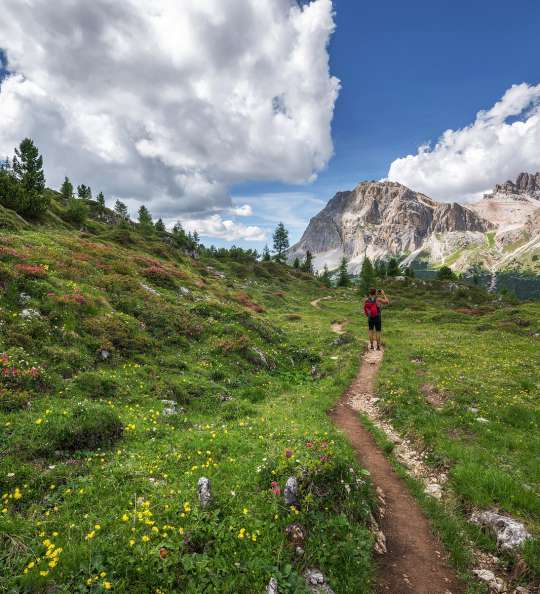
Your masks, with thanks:
[[(232, 190), (240, 202), (279, 193), (278, 200), (267, 200), (262, 217), (249, 220), (267, 227), (269, 212), (285, 219), (292, 213), (294, 220), (286, 222), (293, 240), (336, 191), (384, 177), (394, 159), (415, 153), (447, 128), (470, 124), (511, 85), (540, 83), (538, 0), (334, 5), (331, 72), (342, 85), (332, 127), (335, 156), (313, 184)], [(252, 203), (255, 209), (260, 204)]]

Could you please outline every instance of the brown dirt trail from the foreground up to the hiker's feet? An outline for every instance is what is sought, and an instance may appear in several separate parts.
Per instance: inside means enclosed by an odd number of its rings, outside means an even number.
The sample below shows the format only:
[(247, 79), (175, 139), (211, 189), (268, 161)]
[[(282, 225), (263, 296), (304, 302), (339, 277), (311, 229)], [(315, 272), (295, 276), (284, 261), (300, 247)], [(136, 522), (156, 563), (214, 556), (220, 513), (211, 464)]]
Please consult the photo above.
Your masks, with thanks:
[(446, 562), (442, 543), (433, 535), (407, 486), (349, 405), (355, 397), (373, 393), (382, 357), (382, 351), (368, 351), (363, 356), (358, 376), (330, 413), (356, 450), (362, 466), (371, 473), (374, 486), (384, 495), (385, 512), (379, 524), (386, 536), (387, 552), (380, 556), (376, 591), (379, 594), (460, 594), (463, 588)]

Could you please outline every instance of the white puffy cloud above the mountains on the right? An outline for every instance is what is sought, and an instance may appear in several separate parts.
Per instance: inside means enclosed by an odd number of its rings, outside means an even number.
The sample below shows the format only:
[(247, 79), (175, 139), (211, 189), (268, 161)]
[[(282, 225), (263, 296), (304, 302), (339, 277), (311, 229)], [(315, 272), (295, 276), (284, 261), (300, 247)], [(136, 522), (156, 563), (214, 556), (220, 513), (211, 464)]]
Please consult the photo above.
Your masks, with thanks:
[(514, 85), (434, 147), (396, 159), (388, 179), (446, 201), (470, 201), (521, 171), (540, 170), (540, 84)]

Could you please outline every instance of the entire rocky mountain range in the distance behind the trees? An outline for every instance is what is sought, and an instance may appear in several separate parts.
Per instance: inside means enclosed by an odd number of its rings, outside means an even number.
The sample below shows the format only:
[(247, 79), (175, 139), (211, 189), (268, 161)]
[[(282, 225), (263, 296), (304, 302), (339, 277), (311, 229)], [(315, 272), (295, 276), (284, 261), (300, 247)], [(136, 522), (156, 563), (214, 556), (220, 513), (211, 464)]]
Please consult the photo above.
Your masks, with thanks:
[(473, 204), (437, 202), (397, 182), (362, 182), (310, 220), (289, 260), (307, 251), (317, 270), (335, 269), (345, 256), (356, 273), (367, 255), (459, 272), (540, 274), (540, 173), (521, 173)]

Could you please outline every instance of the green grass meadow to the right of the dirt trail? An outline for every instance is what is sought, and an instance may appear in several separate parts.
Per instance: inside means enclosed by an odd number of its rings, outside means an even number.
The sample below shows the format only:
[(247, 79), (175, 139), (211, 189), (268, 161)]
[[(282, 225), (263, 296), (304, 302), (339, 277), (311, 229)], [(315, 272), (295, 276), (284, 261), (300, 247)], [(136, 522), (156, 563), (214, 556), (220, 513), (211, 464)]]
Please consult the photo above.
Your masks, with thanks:
[[(394, 297), (378, 378), (383, 410), (448, 472), (453, 512), (496, 508), (538, 537), (540, 305), (489, 302), (474, 288), (445, 295), (444, 285), (397, 288)], [(441, 409), (424, 384), (444, 394)], [(524, 551), (536, 576), (537, 543)]]

